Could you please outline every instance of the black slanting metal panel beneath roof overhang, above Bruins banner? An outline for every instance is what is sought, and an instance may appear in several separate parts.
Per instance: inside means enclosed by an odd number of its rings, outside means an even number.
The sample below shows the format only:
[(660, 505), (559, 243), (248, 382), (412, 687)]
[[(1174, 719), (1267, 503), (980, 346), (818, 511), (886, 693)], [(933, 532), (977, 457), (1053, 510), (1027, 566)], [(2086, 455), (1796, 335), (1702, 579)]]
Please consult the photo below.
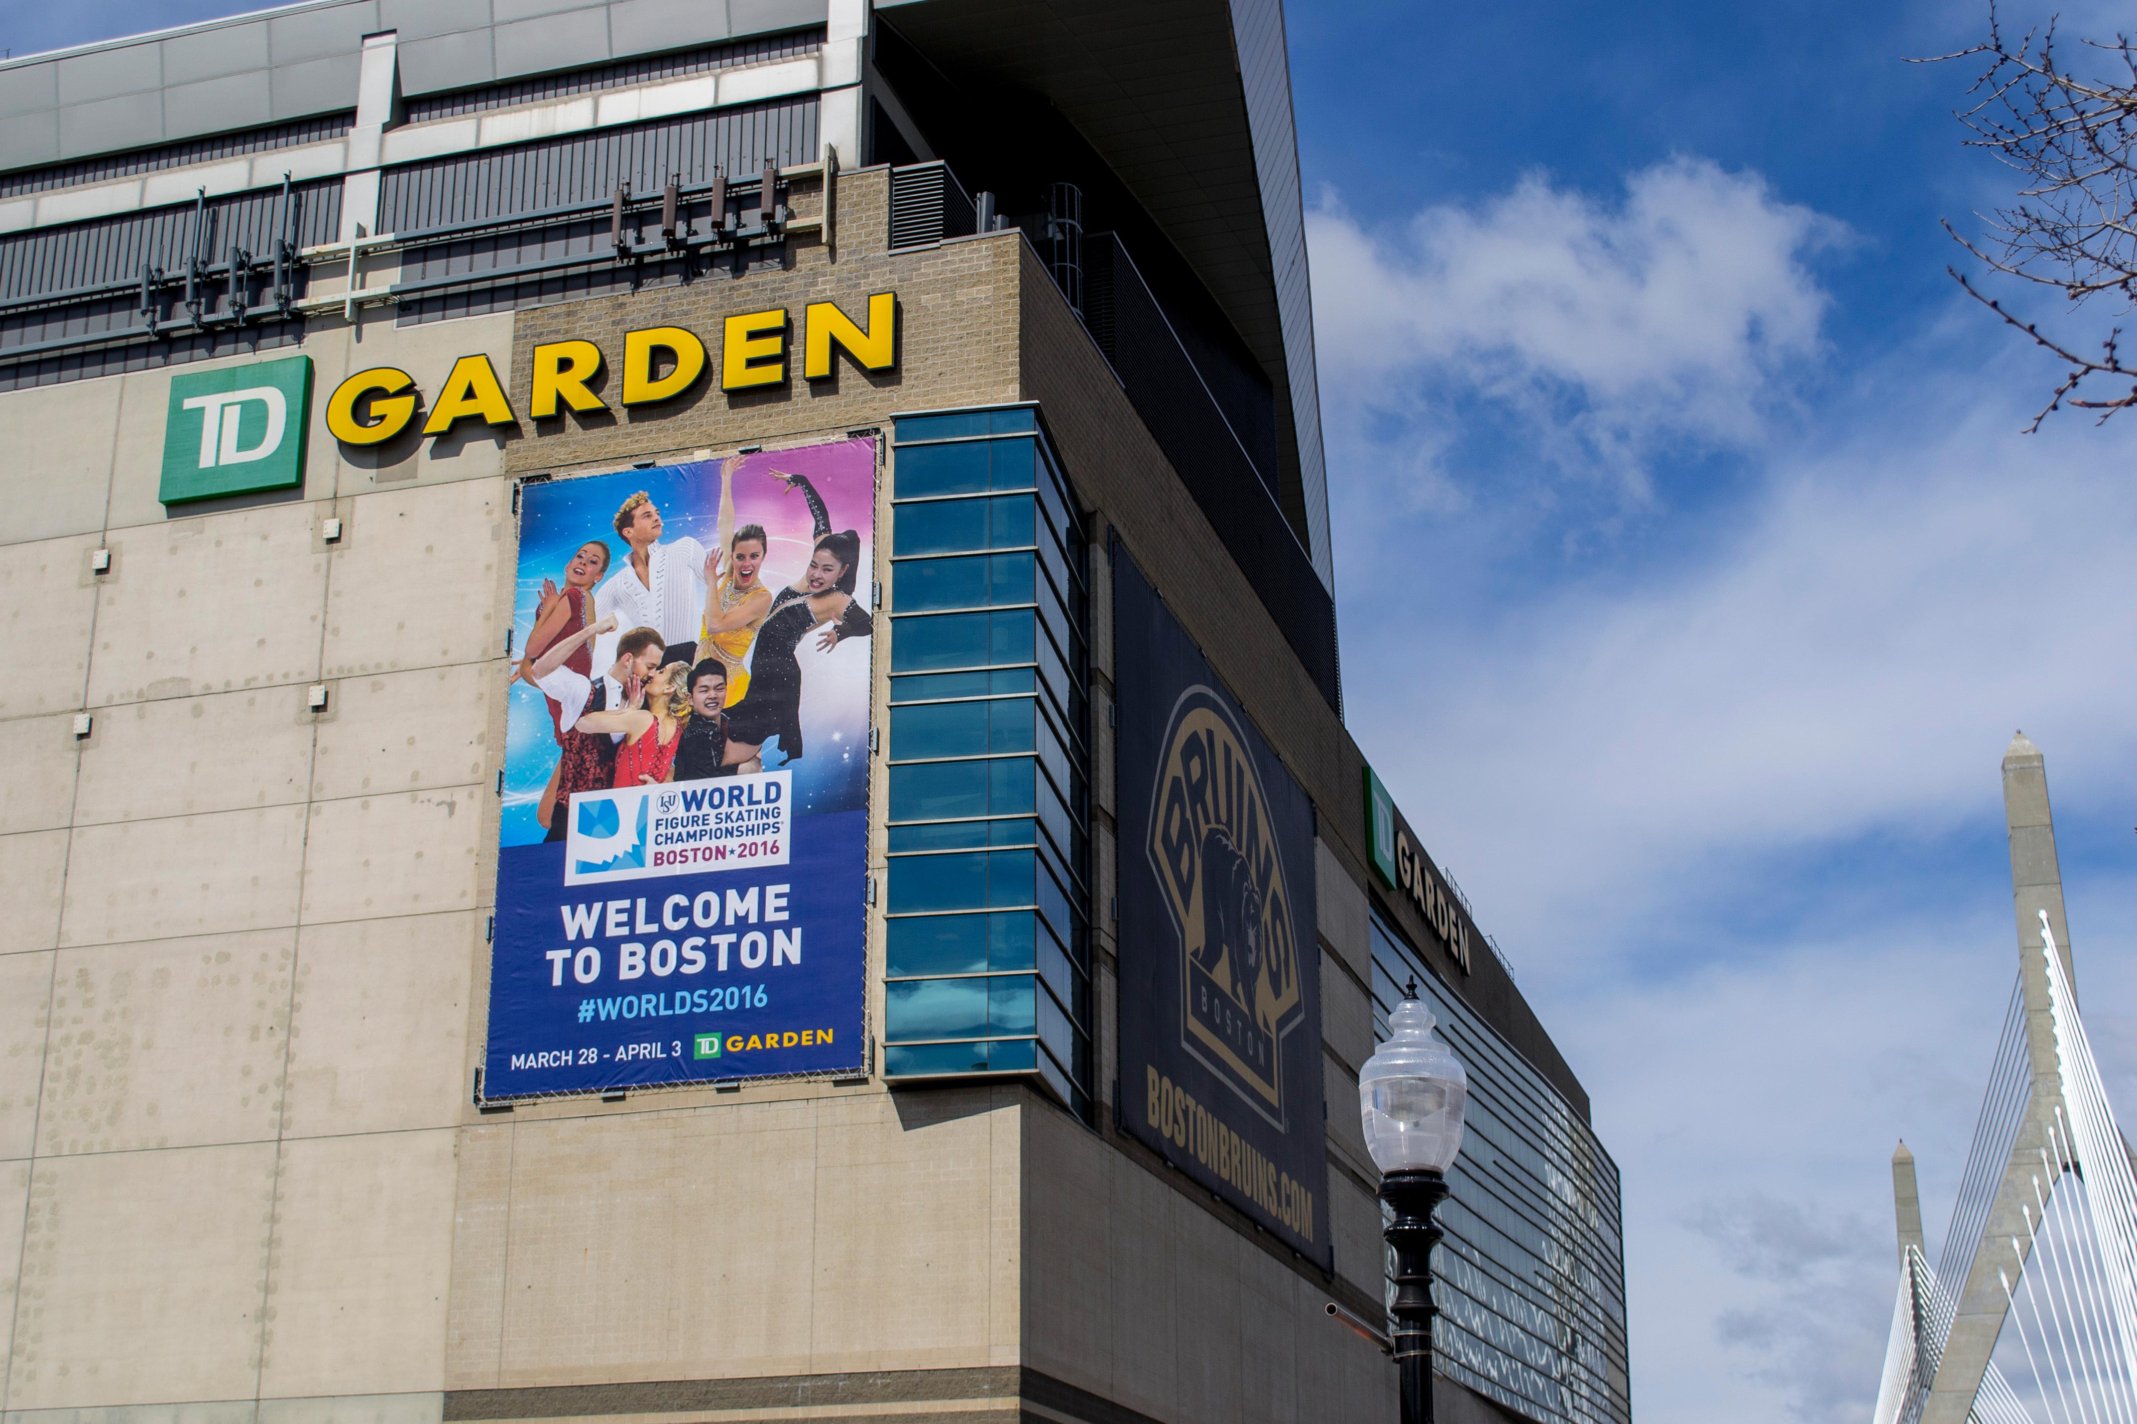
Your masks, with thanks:
[(1086, 318), (1135, 414), (1338, 707), (1336, 602), (1180, 333), (1113, 233), (1083, 239)]

